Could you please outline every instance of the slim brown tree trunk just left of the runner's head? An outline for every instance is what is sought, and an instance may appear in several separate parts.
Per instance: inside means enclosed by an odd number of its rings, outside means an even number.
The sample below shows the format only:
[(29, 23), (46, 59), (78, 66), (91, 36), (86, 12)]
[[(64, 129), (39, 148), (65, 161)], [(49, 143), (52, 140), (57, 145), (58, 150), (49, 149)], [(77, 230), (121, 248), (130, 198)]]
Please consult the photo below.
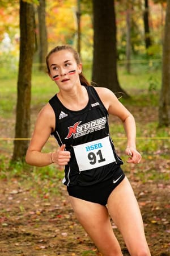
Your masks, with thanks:
[(45, 57), (48, 52), (48, 40), (45, 22), (45, 0), (39, 0), (40, 5), (38, 6), (38, 16), (39, 16), (39, 69), (45, 71)]

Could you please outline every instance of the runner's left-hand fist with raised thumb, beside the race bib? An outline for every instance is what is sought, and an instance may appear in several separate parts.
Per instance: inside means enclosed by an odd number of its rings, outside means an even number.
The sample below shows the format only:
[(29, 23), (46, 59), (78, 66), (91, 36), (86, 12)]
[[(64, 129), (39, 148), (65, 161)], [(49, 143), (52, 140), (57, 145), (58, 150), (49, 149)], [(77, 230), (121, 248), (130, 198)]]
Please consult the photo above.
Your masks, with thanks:
[(57, 163), (59, 166), (66, 166), (69, 163), (71, 155), (70, 151), (65, 150), (66, 145), (62, 144), (56, 152), (51, 155), (53, 163)]

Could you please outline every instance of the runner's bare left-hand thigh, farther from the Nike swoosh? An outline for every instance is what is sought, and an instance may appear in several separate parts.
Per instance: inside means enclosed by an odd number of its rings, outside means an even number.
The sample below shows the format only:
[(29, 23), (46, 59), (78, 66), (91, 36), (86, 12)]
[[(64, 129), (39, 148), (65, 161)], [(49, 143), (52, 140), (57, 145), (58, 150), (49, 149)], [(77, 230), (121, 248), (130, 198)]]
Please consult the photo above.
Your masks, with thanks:
[(122, 255), (114, 236), (108, 210), (104, 205), (70, 197), (76, 218), (103, 255)]

